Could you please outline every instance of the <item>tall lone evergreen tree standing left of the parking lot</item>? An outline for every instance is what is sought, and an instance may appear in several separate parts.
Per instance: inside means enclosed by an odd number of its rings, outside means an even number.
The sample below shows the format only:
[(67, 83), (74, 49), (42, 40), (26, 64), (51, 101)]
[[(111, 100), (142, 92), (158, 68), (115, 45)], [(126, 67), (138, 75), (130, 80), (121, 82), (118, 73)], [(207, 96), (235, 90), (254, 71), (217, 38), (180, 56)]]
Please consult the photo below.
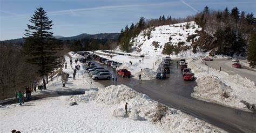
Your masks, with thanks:
[[(26, 60), (38, 66), (37, 72), (42, 78), (51, 73), (55, 68), (62, 67), (56, 53), (61, 49), (56, 45), (56, 41), (52, 36), (52, 21), (48, 19), (46, 12), (42, 7), (37, 8), (35, 14), (29, 20), (32, 25), (28, 25), (25, 29), (26, 37), (23, 46), (24, 53), (27, 55)], [(44, 89), (46, 82), (43, 78)]]

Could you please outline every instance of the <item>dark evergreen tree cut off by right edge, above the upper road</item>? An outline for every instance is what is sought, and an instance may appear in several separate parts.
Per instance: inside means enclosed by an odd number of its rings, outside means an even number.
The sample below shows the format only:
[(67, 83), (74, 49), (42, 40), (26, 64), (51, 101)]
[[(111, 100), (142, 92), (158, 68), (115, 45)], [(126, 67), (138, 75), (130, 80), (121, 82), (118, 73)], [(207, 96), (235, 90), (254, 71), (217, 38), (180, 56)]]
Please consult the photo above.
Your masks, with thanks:
[(251, 67), (256, 66), (256, 32), (251, 35), (250, 44), (248, 46), (248, 62), (250, 62)]

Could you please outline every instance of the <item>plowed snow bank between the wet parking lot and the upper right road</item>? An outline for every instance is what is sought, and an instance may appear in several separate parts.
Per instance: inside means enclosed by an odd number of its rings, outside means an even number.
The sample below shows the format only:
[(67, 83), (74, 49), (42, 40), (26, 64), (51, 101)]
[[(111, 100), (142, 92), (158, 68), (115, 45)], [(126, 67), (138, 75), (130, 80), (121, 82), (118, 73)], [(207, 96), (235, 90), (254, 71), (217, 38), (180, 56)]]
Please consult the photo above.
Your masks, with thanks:
[(245, 110), (248, 109), (241, 100), (256, 104), (256, 87), (251, 80), (211, 68), (207, 74), (207, 66), (199, 59), (188, 60), (188, 68), (197, 77), (197, 86), (194, 87), (194, 93), (191, 93), (192, 97)]

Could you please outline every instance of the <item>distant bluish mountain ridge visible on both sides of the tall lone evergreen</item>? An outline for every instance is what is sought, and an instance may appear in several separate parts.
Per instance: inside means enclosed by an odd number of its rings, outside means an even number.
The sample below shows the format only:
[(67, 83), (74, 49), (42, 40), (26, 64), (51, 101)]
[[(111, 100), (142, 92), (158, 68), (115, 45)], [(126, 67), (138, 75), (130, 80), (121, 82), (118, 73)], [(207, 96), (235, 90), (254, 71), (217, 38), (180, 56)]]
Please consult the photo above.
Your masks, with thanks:
[[(77, 36), (71, 37), (63, 37), (60, 35), (56, 35), (55, 38), (59, 40), (80, 40), (80, 39), (113, 39), (117, 40), (120, 33), (99, 33), (99, 34), (80, 34)], [(0, 41), (0, 43), (24, 43), (23, 38), (19, 39), (11, 39), (11, 40), (4, 40)]]

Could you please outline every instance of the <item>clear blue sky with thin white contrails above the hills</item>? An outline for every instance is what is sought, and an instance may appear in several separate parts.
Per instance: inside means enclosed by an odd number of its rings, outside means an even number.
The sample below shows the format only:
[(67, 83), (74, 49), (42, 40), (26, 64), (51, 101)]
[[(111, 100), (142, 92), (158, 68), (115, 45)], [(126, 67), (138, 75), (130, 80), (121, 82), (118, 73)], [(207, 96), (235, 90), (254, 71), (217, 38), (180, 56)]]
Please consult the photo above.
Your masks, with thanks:
[[(255, 0), (0, 0), (0, 40), (22, 38), (29, 18), (39, 6), (53, 21), (54, 35), (75, 36), (82, 33), (116, 33), (140, 17), (159, 18), (163, 14), (184, 18), (207, 5), (213, 10), (231, 10), (255, 14)], [(255, 15), (254, 15), (255, 16)]]

